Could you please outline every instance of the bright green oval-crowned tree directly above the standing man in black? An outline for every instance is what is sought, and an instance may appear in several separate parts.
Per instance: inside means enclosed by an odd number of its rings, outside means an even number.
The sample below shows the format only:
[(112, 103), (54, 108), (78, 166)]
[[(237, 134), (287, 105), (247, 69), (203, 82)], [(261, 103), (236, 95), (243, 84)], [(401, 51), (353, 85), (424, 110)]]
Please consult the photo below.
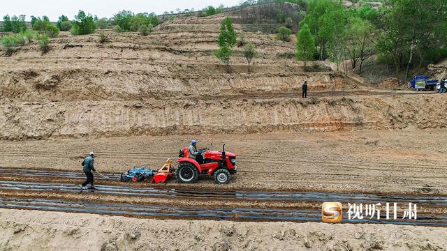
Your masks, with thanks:
[(305, 70), (307, 61), (314, 59), (315, 39), (307, 24), (304, 24), (298, 32), (296, 40), (296, 58), (305, 62)]

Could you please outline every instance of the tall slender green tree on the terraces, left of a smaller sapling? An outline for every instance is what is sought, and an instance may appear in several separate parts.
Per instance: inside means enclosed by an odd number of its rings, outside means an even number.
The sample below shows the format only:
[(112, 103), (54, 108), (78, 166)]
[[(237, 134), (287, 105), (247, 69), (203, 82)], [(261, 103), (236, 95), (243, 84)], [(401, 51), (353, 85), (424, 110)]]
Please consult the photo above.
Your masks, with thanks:
[(233, 47), (237, 44), (237, 34), (231, 17), (226, 17), (225, 20), (222, 21), (221, 33), (219, 33), (217, 41), (219, 50), (215, 51), (213, 54), (225, 64), (227, 73), (230, 73), (230, 59), (233, 55)]

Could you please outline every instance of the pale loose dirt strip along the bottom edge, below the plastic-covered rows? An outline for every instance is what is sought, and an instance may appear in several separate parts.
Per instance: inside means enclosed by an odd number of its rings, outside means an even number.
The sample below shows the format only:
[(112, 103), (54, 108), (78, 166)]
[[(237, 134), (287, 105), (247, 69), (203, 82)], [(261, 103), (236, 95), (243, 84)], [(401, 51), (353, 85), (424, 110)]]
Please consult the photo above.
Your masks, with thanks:
[(0, 210), (1, 250), (444, 250), (447, 229)]

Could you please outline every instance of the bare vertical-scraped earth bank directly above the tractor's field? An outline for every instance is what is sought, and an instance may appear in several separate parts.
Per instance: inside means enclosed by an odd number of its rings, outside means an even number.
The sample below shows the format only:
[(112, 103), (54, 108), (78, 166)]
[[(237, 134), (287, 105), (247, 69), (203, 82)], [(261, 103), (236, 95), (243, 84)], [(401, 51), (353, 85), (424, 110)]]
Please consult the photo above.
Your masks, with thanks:
[[(414, 105), (414, 104), (437, 105)], [(437, 95), (311, 100), (3, 102), (0, 139), (445, 128)]]

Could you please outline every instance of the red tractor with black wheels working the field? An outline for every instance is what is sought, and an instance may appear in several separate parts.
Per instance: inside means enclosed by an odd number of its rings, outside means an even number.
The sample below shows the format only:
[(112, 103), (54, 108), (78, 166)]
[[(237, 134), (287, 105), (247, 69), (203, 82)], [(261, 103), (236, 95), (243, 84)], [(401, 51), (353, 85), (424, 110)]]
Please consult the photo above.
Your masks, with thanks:
[(175, 176), (179, 183), (195, 183), (200, 175), (212, 175), (218, 184), (230, 182), (231, 175), (236, 174), (236, 155), (225, 151), (204, 151), (203, 163), (189, 158), (188, 149), (179, 152), (179, 163)]

